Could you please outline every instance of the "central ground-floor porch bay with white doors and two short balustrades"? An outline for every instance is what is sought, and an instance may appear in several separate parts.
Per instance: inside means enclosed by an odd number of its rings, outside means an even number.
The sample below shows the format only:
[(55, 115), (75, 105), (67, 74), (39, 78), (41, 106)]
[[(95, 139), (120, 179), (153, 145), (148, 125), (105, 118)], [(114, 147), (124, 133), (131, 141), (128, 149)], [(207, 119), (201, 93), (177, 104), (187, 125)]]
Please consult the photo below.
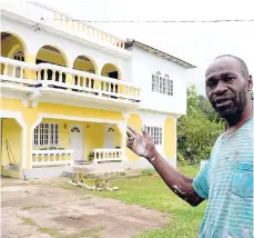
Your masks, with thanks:
[(33, 131), (32, 168), (122, 161), (118, 125), (43, 119)]

